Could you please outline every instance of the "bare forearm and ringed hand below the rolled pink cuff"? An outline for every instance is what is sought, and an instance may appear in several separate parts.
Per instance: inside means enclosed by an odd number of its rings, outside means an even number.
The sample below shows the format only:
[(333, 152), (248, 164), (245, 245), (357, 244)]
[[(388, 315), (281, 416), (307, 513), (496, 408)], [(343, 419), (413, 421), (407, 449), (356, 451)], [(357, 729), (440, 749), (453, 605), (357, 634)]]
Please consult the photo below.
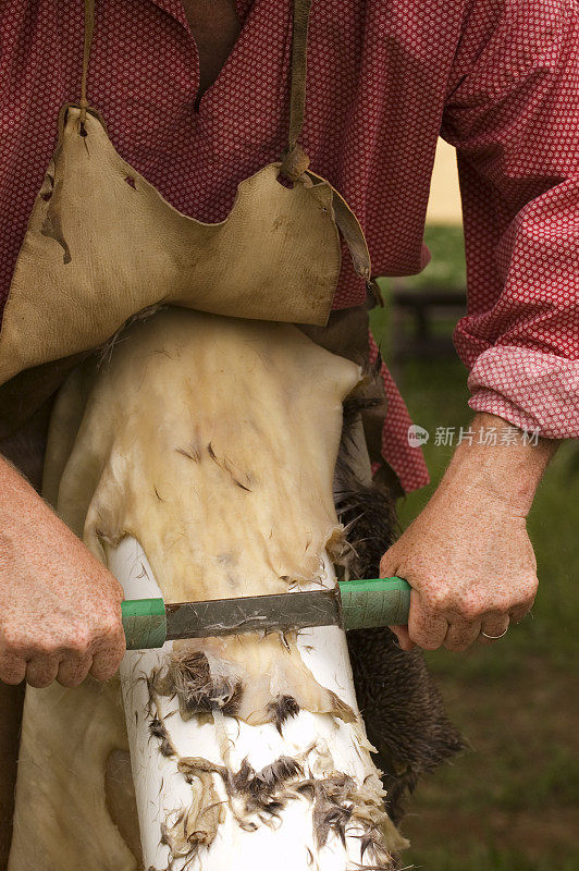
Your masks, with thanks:
[[(481, 414), (472, 429), (505, 426)], [(404, 650), (466, 650), (531, 609), (538, 579), (526, 517), (556, 443), (521, 437), (459, 445), (430, 502), (382, 557), (381, 577), (412, 587), (408, 626), (391, 627)]]

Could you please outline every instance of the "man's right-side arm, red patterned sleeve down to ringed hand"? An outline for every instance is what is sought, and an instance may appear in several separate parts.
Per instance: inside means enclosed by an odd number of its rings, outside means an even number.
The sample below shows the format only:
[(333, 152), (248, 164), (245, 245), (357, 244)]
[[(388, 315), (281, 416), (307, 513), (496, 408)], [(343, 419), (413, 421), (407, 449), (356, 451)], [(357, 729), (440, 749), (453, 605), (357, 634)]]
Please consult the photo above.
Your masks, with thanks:
[(463, 443), (384, 557), (383, 574), (396, 566), (421, 590), (402, 642), (460, 650), (532, 603), (525, 517), (557, 440), (579, 437), (579, 11), (537, 0), (468, 9), (442, 125), (458, 151), (468, 267), (455, 344), (482, 415), (472, 428), (492, 415), (543, 438), (517, 450)]

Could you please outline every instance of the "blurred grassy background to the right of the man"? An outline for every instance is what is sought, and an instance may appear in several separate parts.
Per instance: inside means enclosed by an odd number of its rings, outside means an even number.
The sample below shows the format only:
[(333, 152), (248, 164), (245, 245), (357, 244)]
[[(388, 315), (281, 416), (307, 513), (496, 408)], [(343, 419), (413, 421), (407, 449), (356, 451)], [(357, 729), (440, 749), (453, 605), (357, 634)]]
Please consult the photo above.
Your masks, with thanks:
[[(441, 143), (420, 274), (381, 282), (372, 330), (424, 447), (431, 486), (399, 503), (420, 512), (453, 451), (436, 427), (467, 427), (467, 372), (452, 345), (465, 310), (465, 253), (454, 149)], [(579, 445), (565, 444), (529, 516), (540, 591), (492, 647), (427, 654), (453, 721), (472, 749), (424, 780), (403, 825), (408, 866), (424, 871), (579, 871)], [(496, 566), (501, 572), (501, 566)]]

